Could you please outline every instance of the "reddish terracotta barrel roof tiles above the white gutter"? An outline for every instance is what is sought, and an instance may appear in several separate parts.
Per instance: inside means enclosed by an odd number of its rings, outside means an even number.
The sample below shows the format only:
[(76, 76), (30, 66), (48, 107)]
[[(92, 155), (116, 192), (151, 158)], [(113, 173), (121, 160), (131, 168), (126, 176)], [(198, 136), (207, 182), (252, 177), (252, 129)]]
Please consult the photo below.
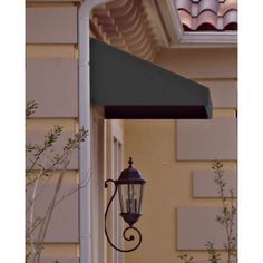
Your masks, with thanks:
[(237, 0), (174, 0), (185, 31), (237, 30)]

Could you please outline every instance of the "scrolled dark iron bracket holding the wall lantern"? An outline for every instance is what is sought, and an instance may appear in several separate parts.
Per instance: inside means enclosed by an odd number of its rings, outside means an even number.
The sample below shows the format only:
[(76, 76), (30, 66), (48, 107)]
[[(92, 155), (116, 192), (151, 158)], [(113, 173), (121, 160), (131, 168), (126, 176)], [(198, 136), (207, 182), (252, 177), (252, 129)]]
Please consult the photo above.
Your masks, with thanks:
[(134, 241), (134, 240), (135, 240), (135, 236), (134, 236), (134, 235), (127, 235), (127, 232), (128, 232), (128, 231), (134, 231), (134, 232), (138, 235), (138, 241), (137, 241), (137, 243), (136, 243), (136, 245), (135, 245), (134, 247), (128, 249), (128, 250), (119, 249), (119, 247), (117, 247), (115, 244), (113, 244), (113, 242), (111, 242), (110, 238), (109, 238), (109, 235), (108, 235), (108, 232), (107, 232), (106, 223), (107, 223), (108, 210), (109, 210), (109, 207), (110, 207), (110, 205), (111, 205), (111, 203), (113, 203), (113, 201), (114, 201), (115, 195), (117, 194), (117, 184), (116, 184), (116, 182), (115, 182), (114, 179), (107, 179), (107, 181), (105, 182), (105, 188), (108, 187), (108, 183), (114, 183), (115, 189), (114, 189), (114, 194), (113, 194), (113, 196), (111, 196), (111, 198), (110, 198), (110, 201), (109, 201), (109, 203), (108, 203), (108, 205), (107, 205), (107, 208), (106, 208), (106, 211), (105, 211), (105, 235), (106, 235), (107, 241), (109, 242), (109, 244), (110, 244), (115, 250), (117, 250), (117, 251), (119, 251), (119, 252), (132, 252), (132, 251), (135, 251), (135, 250), (140, 245), (143, 237), (142, 237), (142, 233), (139, 232), (139, 230), (136, 228), (136, 227), (134, 227), (133, 225), (129, 225), (129, 226), (127, 226), (127, 227), (124, 230), (124, 232), (123, 232), (123, 237), (124, 237), (124, 240), (126, 240), (126, 241)]

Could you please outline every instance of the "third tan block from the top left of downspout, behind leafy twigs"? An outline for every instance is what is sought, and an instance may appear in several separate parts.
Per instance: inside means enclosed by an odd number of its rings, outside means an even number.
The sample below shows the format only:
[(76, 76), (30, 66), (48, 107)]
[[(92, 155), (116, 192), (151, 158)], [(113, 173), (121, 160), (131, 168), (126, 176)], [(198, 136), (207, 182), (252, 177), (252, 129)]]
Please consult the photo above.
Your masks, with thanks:
[[(38, 144), (38, 145), (43, 145), (43, 139), (45, 139), (45, 135), (46, 133), (28, 133), (27, 134), (27, 144), (31, 143), (31, 144)], [(71, 138), (74, 136), (74, 134), (71, 133), (64, 133), (60, 135), (60, 137), (58, 138), (58, 140), (53, 144), (53, 152), (51, 152), (51, 149), (48, 149), (45, 155), (41, 155), (39, 163), (41, 165), (48, 165), (50, 164), (50, 158), (57, 153), (57, 154), (61, 154), (62, 153), (62, 148), (65, 147), (65, 145), (67, 144), (67, 139)], [(30, 167), (30, 164), (33, 160), (35, 157), (32, 156), (33, 153), (28, 153), (27, 154), (27, 168)], [(62, 167), (58, 167), (58, 168), (62, 168)], [(37, 167), (36, 167), (37, 169)], [(39, 167), (38, 167), (39, 169)], [(71, 157), (70, 157), (70, 163), (67, 167), (67, 169), (78, 169), (78, 149), (76, 149)]]

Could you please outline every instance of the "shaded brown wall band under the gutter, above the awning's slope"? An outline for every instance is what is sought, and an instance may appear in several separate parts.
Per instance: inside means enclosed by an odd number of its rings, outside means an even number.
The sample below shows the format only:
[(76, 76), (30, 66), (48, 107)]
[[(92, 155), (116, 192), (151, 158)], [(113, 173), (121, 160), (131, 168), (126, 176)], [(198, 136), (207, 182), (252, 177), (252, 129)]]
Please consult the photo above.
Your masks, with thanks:
[(155, 64), (189, 79), (237, 78), (237, 52), (234, 48), (160, 49)]

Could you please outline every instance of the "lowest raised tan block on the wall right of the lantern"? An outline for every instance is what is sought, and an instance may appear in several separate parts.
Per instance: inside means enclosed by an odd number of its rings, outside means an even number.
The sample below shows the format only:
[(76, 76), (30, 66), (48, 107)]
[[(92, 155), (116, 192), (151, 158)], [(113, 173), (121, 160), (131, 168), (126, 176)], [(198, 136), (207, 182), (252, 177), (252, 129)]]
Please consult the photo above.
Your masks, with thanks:
[[(207, 241), (213, 242), (215, 249), (223, 250), (225, 231), (215, 221), (220, 213), (220, 207), (178, 207), (177, 250), (205, 250)], [(234, 232), (236, 233), (236, 227)]]

